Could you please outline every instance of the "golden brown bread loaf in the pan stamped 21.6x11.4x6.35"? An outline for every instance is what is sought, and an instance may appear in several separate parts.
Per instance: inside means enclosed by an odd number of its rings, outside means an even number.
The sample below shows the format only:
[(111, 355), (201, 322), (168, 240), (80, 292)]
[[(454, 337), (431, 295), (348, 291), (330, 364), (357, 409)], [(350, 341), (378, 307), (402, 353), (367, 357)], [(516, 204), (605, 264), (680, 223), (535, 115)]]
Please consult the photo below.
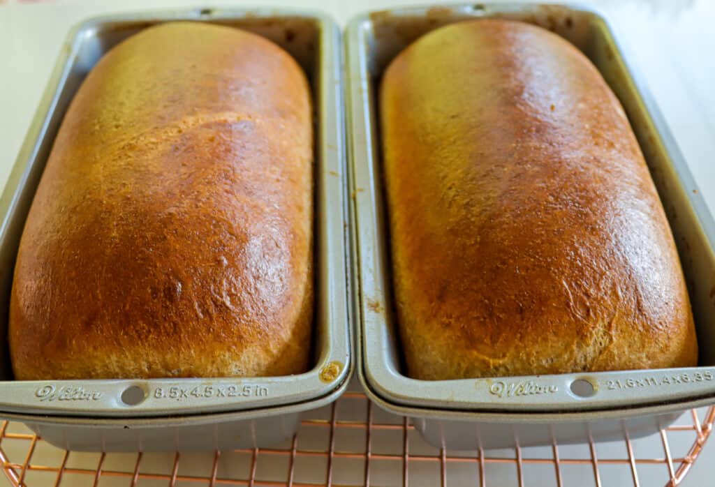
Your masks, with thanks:
[(694, 366), (674, 241), (628, 119), (567, 41), (445, 26), (380, 87), (408, 374)]

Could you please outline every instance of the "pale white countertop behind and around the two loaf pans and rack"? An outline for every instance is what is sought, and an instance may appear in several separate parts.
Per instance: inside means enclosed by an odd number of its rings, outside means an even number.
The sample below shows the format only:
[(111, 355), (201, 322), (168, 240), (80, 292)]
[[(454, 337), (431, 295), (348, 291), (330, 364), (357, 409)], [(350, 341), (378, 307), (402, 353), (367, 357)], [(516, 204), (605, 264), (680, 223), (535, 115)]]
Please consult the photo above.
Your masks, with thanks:
[[(414, 3), (414, 0), (282, 0), (270, 5), (322, 9), (344, 25), (350, 16), (362, 11)], [(613, 22), (621, 44), (632, 55), (633, 65), (641, 72), (676, 137), (701, 194), (715, 213), (715, 3), (709, 0), (591, 3), (605, 11)], [(0, 0), (0, 187), (14, 164), (71, 25), (88, 16), (117, 11), (257, 5), (258, 0), (40, 3)], [(712, 485), (710, 477), (715, 473), (712, 443), (715, 440), (708, 443), (684, 486)], [(603, 485), (612, 485), (606, 479), (601, 479)]]

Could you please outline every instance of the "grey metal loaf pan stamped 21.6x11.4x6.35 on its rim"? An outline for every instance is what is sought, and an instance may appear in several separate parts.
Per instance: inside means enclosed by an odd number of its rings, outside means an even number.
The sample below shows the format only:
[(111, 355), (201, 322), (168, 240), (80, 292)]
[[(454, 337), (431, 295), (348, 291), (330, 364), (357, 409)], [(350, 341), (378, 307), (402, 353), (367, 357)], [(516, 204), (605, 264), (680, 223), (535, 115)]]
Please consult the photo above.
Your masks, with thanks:
[[(669, 370), (418, 381), (402, 373), (388, 268), (376, 91), (390, 60), (421, 35), (466, 19), (500, 17), (565, 37), (601, 71), (626, 109), (666, 209), (696, 319), (700, 366)], [(663, 118), (603, 16), (570, 6), (477, 4), (398, 9), (347, 29), (349, 158), (355, 273), (360, 290), (358, 371), (373, 401), (411, 416), (435, 446), (457, 449), (631, 438), (686, 408), (715, 402), (715, 224)], [(475, 48), (476, 49), (476, 48)]]

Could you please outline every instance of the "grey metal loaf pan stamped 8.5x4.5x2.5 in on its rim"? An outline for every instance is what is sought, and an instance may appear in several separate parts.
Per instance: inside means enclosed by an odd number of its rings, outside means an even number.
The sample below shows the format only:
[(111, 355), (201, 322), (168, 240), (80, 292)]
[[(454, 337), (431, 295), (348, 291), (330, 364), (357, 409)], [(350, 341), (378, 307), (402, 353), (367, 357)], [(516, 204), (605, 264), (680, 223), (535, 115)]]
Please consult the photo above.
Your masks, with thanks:
[[(71, 450), (157, 451), (265, 446), (289, 438), (299, 413), (335, 400), (352, 368), (341, 37), (304, 11), (194, 9), (104, 16), (74, 27), (0, 199), (0, 298), (8, 309), (14, 259), (34, 191), (64, 112), (112, 46), (166, 21), (235, 26), (286, 49), (305, 69), (315, 105), (315, 328), (313, 367), (296, 376), (102, 381), (13, 381), (0, 321), (0, 416)], [(180, 39), (179, 39), (180, 41)]]

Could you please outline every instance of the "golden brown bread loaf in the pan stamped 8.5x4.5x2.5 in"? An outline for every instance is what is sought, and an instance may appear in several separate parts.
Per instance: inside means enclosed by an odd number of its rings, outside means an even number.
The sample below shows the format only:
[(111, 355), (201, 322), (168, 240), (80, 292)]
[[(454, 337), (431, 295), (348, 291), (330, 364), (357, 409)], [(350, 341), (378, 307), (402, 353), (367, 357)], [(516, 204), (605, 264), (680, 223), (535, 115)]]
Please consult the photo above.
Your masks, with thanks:
[(21, 239), (17, 379), (307, 367), (312, 126), (300, 66), (247, 32), (155, 26), (74, 97)]

